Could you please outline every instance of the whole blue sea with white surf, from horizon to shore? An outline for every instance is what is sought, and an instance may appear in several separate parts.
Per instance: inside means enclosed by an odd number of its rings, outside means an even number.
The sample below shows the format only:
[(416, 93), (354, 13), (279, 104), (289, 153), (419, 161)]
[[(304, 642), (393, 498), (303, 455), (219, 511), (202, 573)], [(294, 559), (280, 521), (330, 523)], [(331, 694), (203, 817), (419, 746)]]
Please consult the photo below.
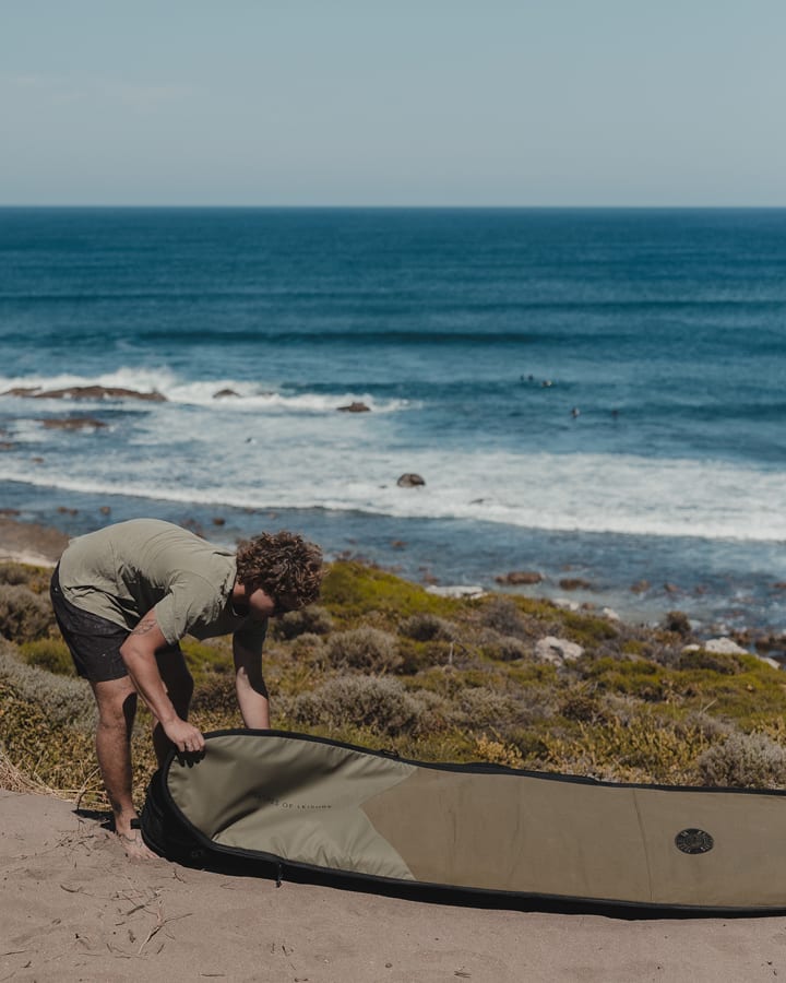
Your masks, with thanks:
[(23, 520), (786, 630), (786, 211), (4, 209), (0, 353), (166, 396), (1, 395)]

